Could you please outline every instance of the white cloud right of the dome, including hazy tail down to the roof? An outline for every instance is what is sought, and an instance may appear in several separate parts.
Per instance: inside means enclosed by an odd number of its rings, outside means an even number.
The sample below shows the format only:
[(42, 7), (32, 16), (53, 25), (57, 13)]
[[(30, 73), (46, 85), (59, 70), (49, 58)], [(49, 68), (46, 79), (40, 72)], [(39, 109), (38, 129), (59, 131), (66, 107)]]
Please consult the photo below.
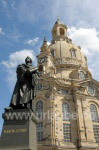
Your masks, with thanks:
[(99, 32), (95, 28), (69, 28), (69, 37), (73, 43), (81, 46), (81, 50), (88, 58), (89, 68), (93, 77), (99, 80)]

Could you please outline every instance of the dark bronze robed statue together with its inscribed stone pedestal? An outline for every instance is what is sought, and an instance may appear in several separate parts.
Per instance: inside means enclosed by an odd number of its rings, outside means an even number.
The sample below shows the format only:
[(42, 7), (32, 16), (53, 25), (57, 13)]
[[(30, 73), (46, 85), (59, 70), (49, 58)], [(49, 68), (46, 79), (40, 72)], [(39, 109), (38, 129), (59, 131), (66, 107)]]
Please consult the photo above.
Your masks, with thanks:
[(27, 57), (24, 64), (18, 65), (16, 73), (17, 82), (9, 108), (5, 108), (2, 114), (4, 123), (0, 136), (0, 150), (37, 150), (38, 120), (33, 112), (32, 102), (38, 69), (32, 66), (31, 58)]

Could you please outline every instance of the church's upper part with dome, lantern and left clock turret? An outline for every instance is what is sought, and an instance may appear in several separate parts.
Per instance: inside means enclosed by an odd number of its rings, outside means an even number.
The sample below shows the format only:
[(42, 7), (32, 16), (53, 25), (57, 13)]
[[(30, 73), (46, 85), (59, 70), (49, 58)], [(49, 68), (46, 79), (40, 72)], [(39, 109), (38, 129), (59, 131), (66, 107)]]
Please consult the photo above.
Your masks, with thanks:
[(80, 46), (73, 44), (67, 36), (67, 26), (60, 22), (59, 18), (52, 28), (50, 45), (44, 39), (41, 53), (37, 57), (38, 68), (42, 74), (52, 71), (52, 74), (58, 78), (77, 80), (91, 77), (87, 58), (82, 53)]

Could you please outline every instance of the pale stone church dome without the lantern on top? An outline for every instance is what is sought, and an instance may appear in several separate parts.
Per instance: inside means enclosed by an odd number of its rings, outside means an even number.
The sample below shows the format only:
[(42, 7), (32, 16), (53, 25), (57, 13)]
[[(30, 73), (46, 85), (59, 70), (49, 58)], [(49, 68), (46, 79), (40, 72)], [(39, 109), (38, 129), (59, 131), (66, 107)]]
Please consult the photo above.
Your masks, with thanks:
[(55, 41), (50, 45), (50, 52), (53, 53), (53, 60), (56, 64), (71, 64), (87, 67), (87, 60), (81, 49), (66, 40)]

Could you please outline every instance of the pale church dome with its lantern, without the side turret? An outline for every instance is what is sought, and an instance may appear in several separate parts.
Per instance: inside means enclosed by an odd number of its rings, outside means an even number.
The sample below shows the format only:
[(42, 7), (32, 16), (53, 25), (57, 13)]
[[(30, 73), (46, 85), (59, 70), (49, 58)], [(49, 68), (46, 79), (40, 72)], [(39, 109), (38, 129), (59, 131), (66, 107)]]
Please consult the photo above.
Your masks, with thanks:
[(87, 68), (87, 59), (80, 46), (72, 44), (67, 36), (67, 26), (58, 20), (52, 28), (52, 43), (49, 46), (56, 65), (72, 65)]

